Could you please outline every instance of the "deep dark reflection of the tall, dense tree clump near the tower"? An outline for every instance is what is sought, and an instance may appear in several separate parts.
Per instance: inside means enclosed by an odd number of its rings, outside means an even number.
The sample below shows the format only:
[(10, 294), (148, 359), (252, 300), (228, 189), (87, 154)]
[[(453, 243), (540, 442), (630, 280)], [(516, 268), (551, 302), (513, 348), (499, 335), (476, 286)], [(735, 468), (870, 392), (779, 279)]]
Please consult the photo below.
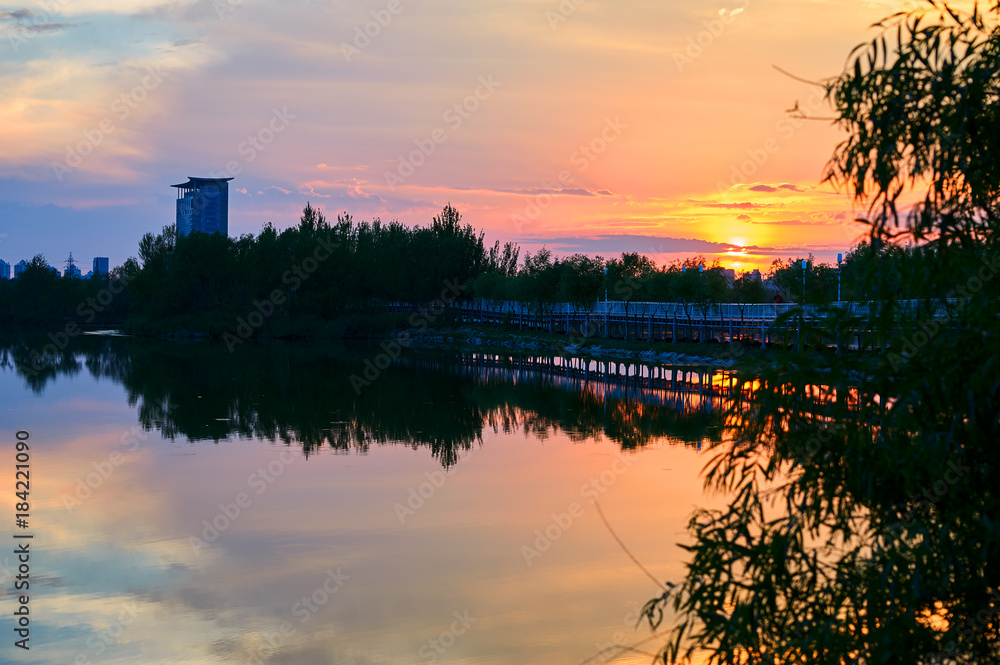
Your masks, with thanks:
[[(483, 417), (440, 377), (389, 369), (355, 394), (363, 357), (296, 344), (135, 344), (123, 383), (141, 399), (143, 427), (171, 438), (229, 436), (366, 451), (374, 444), (427, 446), (445, 466), (478, 440)], [(414, 399), (414, 396), (419, 396)]]

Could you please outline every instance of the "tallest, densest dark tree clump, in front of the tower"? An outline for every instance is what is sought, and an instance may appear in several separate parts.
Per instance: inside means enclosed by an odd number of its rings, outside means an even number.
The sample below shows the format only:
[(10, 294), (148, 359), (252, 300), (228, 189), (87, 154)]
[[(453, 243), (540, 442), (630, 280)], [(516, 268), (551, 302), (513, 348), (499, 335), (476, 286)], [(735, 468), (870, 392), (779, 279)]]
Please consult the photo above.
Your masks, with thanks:
[(387, 302), (429, 302), (483, 272), (515, 272), (517, 248), (488, 247), (483, 238), (451, 205), (417, 227), (356, 222), (346, 213), (331, 223), (309, 204), (297, 226), (268, 224), (256, 236), (178, 238), (164, 227), (139, 243), (127, 327), (221, 335), (257, 312), (256, 327), (267, 334), (342, 336), (371, 325)]

